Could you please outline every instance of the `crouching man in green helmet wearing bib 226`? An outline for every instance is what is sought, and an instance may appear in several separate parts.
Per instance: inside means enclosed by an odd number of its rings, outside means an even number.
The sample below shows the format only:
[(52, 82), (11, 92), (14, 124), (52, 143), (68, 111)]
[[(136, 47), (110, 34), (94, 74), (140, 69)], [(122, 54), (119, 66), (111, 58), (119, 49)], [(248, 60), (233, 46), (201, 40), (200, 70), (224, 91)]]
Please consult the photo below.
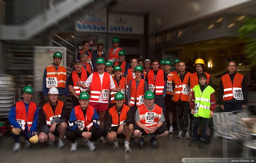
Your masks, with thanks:
[(163, 109), (154, 103), (155, 95), (151, 91), (144, 94), (145, 104), (138, 107), (134, 118), (136, 128), (134, 129), (134, 137), (139, 139), (139, 147), (144, 148), (144, 138), (142, 135), (156, 134), (149, 139), (149, 143), (153, 148), (157, 148), (156, 140), (166, 137), (169, 134), (164, 124)]

